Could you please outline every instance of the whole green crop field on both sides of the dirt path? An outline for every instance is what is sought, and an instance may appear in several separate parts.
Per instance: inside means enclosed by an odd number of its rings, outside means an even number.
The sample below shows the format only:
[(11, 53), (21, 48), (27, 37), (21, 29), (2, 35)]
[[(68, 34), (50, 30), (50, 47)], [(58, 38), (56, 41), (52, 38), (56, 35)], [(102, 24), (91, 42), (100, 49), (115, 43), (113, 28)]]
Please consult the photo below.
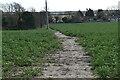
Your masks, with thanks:
[[(79, 37), (79, 42), (92, 56), (94, 75), (119, 77), (117, 23), (51, 24), (51, 28), (68, 36)], [(40, 63), (46, 54), (55, 53), (60, 41), (46, 29), (3, 31), (3, 77), (33, 77), (42, 74)]]

